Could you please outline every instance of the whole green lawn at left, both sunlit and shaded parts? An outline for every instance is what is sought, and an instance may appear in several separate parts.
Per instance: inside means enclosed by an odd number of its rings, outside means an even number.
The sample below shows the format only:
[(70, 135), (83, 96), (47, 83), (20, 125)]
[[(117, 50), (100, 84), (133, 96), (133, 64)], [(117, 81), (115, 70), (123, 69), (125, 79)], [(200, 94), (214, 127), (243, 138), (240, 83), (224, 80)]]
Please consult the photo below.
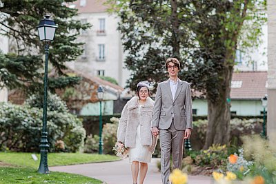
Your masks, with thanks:
[[(32, 159), (32, 153), (0, 152), (0, 183), (102, 183), (101, 181), (63, 172), (51, 172), (39, 174), (40, 155), (36, 154), (38, 161)], [(96, 163), (106, 161), (118, 161), (119, 157), (99, 154), (80, 153), (50, 153), (48, 154), (48, 166), (72, 165), (78, 163)]]

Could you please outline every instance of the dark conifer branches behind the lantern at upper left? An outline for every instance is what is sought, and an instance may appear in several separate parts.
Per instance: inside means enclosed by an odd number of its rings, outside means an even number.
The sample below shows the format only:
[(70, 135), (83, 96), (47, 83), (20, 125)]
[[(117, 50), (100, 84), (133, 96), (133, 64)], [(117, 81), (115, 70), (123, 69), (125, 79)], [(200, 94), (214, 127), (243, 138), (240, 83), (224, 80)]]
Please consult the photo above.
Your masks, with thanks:
[[(3, 6), (0, 8), (0, 14), (3, 16), (0, 24), (3, 26), (0, 28), (0, 34), (6, 35), (12, 41), (10, 48), (12, 52), (17, 53), (12, 58), (0, 53), (0, 63), (5, 62), (5, 65), (0, 64), (0, 81), (3, 82), (1, 85), (25, 88), (28, 92), (41, 90), (43, 70), (37, 69), (43, 69), (41, 58), (44, 57), (44, 43), (39, 41), (37, 25), (44, 14), (50, 14), (59, 26), (55, 41), (50, 44), (50, 65), (57, 70), (59, 76), (67, 78), (62, 72), (66, 69), (64, 63), (74, 61), (83, 52), (83, 43), (77, 41), (77, 36), (80, 30), (90, 28), (89, 23), (81, 24), (79, 20), (72, 19), (77, 16), (77, 9), (66, 6), (66, 3), (71, 2), (73, 0), (1, 1)], [(12, 66), (14, 68), (11, 68)], [(58, 78), (55, 82), (51, 79), (50, 89), (65, 88), (79, 80), (74, 77), (63, 78)]]

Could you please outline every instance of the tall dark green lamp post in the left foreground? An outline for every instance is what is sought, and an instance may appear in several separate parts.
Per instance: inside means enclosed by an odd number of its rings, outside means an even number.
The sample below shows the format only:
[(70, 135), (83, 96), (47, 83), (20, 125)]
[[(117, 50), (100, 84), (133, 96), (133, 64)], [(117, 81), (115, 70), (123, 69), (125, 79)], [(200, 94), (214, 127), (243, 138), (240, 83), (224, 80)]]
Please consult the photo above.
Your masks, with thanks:
[(40, 21), (37, 26), (39, 32), (40, 41), (45, 41), (45, 72), (44, 72), (44, 99), (43, 99), (43, 121), (42, 121), (42, 134), (40, 141), (40, 164), (38, 172), (41, 174), (49, 174), (48, 169), (48, 132), (47, 132), (47, 89), (48, 89), (48, 54), (49, 54), (49, 43), (54, 40), (55, 31), (57, 25), (55, 21), (49, 19), (50, 16), (46, 15), (43, 20)]

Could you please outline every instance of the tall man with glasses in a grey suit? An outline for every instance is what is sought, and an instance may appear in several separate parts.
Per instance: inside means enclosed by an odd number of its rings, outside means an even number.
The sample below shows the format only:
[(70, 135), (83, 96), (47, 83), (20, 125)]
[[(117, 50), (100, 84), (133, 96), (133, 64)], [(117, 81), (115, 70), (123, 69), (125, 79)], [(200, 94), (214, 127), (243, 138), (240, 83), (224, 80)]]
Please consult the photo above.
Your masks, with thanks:
[(170, 152), (173, 170), (181, 170), (184, 139), (189, 139), (192, 125), (192, 98), (190, 83), (181, 81), (177, 75), (180, 63), (169, 58), (165, 63), (170, 78), (158, 84), (152, 116), (152, 134), (159, 134), (161, 147), (161, 178), (168, 184), (170, 175)]

